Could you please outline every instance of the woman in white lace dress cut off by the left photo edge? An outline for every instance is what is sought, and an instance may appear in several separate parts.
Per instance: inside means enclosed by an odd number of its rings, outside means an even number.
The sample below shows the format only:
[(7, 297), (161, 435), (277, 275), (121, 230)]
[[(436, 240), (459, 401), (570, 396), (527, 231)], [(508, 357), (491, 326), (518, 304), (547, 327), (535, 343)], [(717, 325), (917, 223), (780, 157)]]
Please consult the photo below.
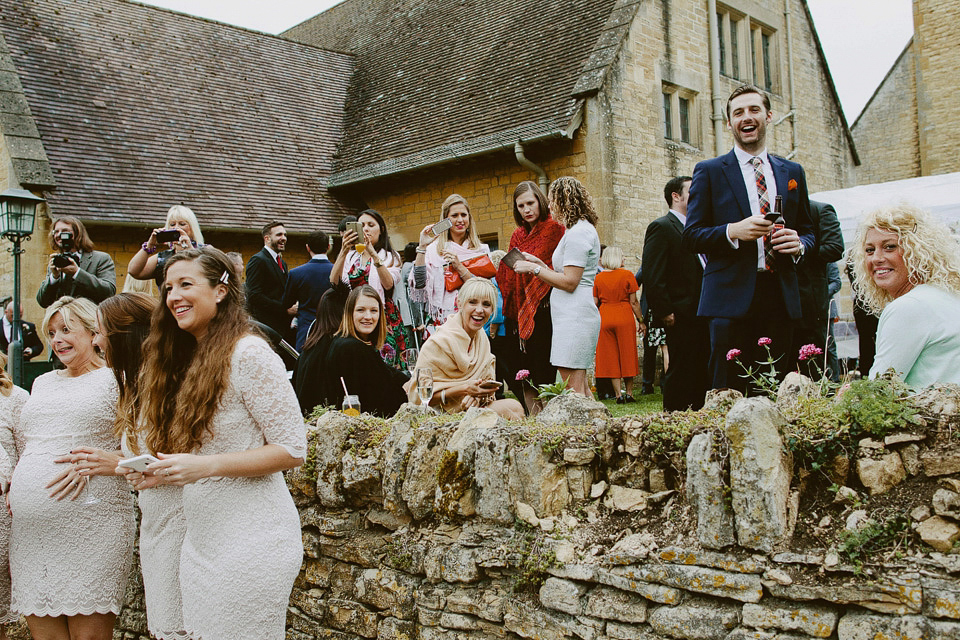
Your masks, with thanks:
[[(0, 492), (6, 493), (10, 475), (17, 464), (17, 449), (13, 444), (13, 428), (20, 422), (20, 410), (30, 397), (6, 371), (7, 357), (0, 353)], [(4, 625), (16, 622), (20, 616), (10, 611), (10, 571), (7, 551), (10, 542), (10, 512), (0, 504), (0, 640), (7, 640)]]

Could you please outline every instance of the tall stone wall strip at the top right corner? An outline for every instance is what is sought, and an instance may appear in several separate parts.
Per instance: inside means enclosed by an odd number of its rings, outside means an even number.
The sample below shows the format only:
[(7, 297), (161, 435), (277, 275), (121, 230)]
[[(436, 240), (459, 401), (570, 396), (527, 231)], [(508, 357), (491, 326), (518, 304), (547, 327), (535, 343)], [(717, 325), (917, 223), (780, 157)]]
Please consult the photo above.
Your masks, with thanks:
[(922, 175), (960, 171), (960, 4), (914, 0), (917, 112)]

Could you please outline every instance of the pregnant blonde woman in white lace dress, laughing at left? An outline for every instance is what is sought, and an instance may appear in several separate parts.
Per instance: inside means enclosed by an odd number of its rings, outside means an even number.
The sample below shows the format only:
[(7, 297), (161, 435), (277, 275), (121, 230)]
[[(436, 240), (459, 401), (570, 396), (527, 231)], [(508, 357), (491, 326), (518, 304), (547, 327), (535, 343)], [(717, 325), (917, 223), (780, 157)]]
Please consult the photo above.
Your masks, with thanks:
[(134, 518), (126, 483), (65, 475), (56, 462), (78, 447), (120, 448), (117, 383), (94, 350), (95, 326), (96, 306), (85, 298), (63, 297), (47, 308), (41, 333), (66, 369), (34, 381), (14, 430), (20, 457), (9, 494), (11, 607), (27, 617), (34, 638), (112, 638), (130, 573)]

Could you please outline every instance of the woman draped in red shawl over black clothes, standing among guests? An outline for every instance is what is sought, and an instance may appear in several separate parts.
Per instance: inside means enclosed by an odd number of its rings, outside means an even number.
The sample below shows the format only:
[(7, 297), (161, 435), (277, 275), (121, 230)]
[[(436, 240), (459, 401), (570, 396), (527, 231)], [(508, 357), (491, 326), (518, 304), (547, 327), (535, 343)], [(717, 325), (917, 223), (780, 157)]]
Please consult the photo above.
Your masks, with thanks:
[[(547, 265), (553, 250), (563, 237), (563, 225), (550, 216), (547, 197), (534, 182), (524, 181), (513, 190), (513, 219), (517, 230), (510, 237), (510, 248), (532, 253)], [(523, 400), (531, 415), (541, 405), (533, 385), (552, 384), (557, 369), (550, 364), (550, 341), (553, 328), (550, 321), (550, 285), (532, 274), (521, 275), (501, 262), (497, 270), (497, 284), (503, 295), (504, 326), (507, 330), (504, 351), (498, 349), (510, 371), (508, 382), (518, 398)], [(529, 376), (523, 382), (515, 380), (517, 372), (526, 369)], [(522, 384), (520, 391), (516, 385)]]

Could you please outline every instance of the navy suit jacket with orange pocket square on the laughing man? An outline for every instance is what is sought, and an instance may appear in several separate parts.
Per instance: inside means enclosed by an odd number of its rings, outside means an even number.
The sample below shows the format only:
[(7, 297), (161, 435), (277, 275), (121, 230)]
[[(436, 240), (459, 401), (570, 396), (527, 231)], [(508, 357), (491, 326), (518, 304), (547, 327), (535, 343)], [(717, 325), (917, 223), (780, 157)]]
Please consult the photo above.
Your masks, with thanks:
[[(768, 154), (783, 196), (783, 217), (786, 226), (795, 229), (804, 250), (814, 250), (810, 198), (803, 167), (795, 162)], [(791, 183), (791, 181), (793, 181)], [(750, 201), (737, 156), (730, 153), (697, 163), (687, 203), (687, 224), (683, 229), (683, 246), (688, 251), (706, 254), (703, 288), (698, 315), (719, 318), (746, 316), (757, 282), (757, 241), (740, 241), (734, 249), (727, 240), (727, 224), (750, 216)], [(793, 256), (777, 255), (776, 271), (787, 313), (794, 320), (801, 317), (800, 294)]]

